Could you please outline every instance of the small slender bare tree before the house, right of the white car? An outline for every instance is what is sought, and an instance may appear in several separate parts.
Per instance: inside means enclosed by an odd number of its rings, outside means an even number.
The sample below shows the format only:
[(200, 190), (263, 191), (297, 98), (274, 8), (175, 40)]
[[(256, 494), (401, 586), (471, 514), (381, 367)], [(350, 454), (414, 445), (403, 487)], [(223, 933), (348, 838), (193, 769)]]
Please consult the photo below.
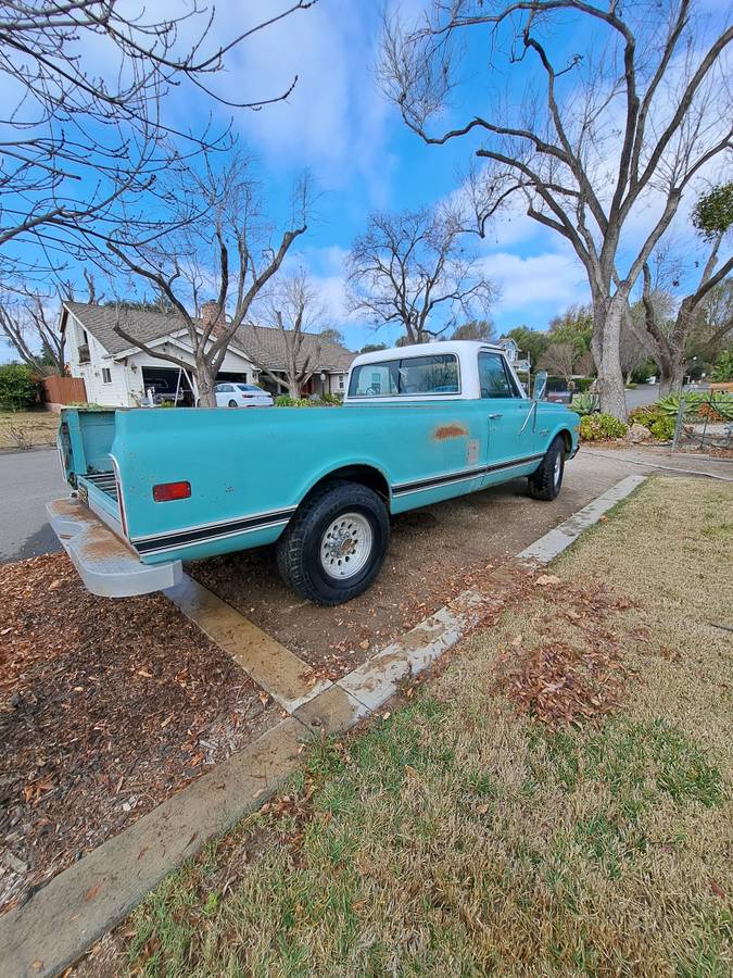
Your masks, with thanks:
[(247, 354), (279, 388), (298, 399), (318, 368), (320, 339), (318, 335), (312, 337), (308, 334), (316, 323), (323, 321), (324, 305), (306, 272), (299, 268), (276, 283), (268, 306), (268, 318), (279, 330), (285, 348), (285, 381), (263, 365), (262, 343), (256, 329), (248, 334), (253, 339), (247, 344)]

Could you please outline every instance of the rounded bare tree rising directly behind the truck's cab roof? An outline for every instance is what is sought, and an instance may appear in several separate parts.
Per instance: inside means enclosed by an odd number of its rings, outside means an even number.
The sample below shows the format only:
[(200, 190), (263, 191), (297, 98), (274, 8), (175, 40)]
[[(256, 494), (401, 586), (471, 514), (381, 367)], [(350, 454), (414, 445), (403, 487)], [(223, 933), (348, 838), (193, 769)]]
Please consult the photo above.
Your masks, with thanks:
[(372, 214), (349, 255), (352, 311), (377, 327), (399, 324), (409, 343), (485, 312), (494, 290), (465, 240), (460, 215), (447, 208)]

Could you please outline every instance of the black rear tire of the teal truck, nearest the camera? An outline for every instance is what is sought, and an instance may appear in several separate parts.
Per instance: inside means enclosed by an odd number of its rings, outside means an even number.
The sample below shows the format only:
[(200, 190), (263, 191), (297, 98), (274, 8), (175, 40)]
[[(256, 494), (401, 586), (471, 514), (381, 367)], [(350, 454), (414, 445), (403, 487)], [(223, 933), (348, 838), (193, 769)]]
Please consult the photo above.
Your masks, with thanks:
[[(339, 543), (331, 546), (328, 557), (338, 577), (329, 573), (321, 557), (321, 547), (327, 547), (325, 536), (339, 517), (343, 516), (343, 544), (355, 546), (349, 537), (349, 518), (361, 527), (362, 553), (358, 569), (352, 573), (347, 561), (353, 554), (338, 553)], [(367, 529), (367, 526), (369, 529)], [(370, 532), (369, 532), (370, 530)], [(356, 535), (356, 539), (358, 535)], [(336, 537), (334, 537), (336, 541)], [(315, 604), (334, 605), (351, 601), (364, 593), (379, 574), (390, 541), (390, 521), (382, 499), (371, 489), (358, 482), (333, 480), (313, 492), (298, 507), (277, 543), (277, 566), (288, 587), (303, 594)], [(343, 570), (340, 569), (343, 560)], [(362, 565), (359, 561), (364, 560)], [(338, 562), (339, 567), (336, 567)]]

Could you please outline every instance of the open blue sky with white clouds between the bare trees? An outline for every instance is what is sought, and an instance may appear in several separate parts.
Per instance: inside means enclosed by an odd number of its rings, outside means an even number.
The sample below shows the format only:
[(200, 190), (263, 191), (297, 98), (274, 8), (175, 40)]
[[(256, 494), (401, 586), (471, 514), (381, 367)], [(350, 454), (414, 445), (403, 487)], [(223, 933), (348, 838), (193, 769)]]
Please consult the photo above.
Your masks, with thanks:
[[(426, 3), (402, 0), (399, 5), (409, 21)], [(723, 10), (719, 0), (699, 0), (699, 4)], [(287, 0), (219, 0), (216, 36), (211, 41), (226, 41), (286, 5)], [(167, 9), (165, 0), (152, 0), (146, 8)], [(289, 261), (311, 269), (328, 310), (326, 325), (340, 327), (352, 348), (375, 339), (392, 340), (400, 331), (394, 327), (375, 334), (363, 318), (346, 314), (344, 259), (354, 236), (364, 230), (372, 210), (409, 210), (447, 197), (471, 159), (471, 145), (466, 140), (426, 146), (379, 91), (375, 63), (380, 11), (381, 3), (376, 0), (318, 0), (313, 9), (293, 14), (233, 51), (226, 72), (216, 79), (222, 95), (241, 99), (273, 96), (299, 75), (287, 102), (256, 113), (238, 112), (236, 129), (241, 146), (256, 158), (273, 215), (279, 212), (283, 216), (292, 181), (304, 171), (312, 175), (317, 192), (315, 214)], [(569, 53), (583, 48), (587, 36), (578, 33), (571, 18), (565, 26), (566, 30), (555, 36), (555, 46)], [(93, 70), (93, 51), (88, 64)], [(511, 72), (519, 92), (528, 68)], [(471, 108), (480, 109), (486, 98), (482, 51), (471, 52), (464, 77), (454, 106), (454, 117), (463, 122)], [(515, 84), (509, 76), (490, 80), (496, 86), (507, 80)], [(190, 92), (174, 95), (168, 105), (174, 121), (181, 125), (198, 115), (205, 117), (207, 109)], [(229, 110), (217, 112), (224, 121)], [(654, 202), (649, 206), (653, 211)], [(637, 231), (644, 223), (642, 214)], [(681, 240), (691, 239), (684, 212), (679, 224)], [(587, 301), (584, 271), (564, 239), (519, 211), (493, 226), (478, 247), (489, 277), (500, 288), (492, 313), (500, 333), (520, 324), (545, 329), (567, 305)]]

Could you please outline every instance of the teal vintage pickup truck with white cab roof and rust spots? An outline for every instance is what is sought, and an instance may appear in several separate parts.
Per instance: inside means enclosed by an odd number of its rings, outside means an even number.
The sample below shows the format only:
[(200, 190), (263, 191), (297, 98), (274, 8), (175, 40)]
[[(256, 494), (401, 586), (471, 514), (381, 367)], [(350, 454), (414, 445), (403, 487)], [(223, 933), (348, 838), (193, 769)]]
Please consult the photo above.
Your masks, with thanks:
[(275, 543), (288, 585), (339, 604), (379, 574), (391, 515), (518, 476), (557, 496), (578, 415), (538, 380), (529, 399), (501, 348), (444, 342), (357, 356), (343, 408), (64, 409), (50, 519), (96, 594)]

